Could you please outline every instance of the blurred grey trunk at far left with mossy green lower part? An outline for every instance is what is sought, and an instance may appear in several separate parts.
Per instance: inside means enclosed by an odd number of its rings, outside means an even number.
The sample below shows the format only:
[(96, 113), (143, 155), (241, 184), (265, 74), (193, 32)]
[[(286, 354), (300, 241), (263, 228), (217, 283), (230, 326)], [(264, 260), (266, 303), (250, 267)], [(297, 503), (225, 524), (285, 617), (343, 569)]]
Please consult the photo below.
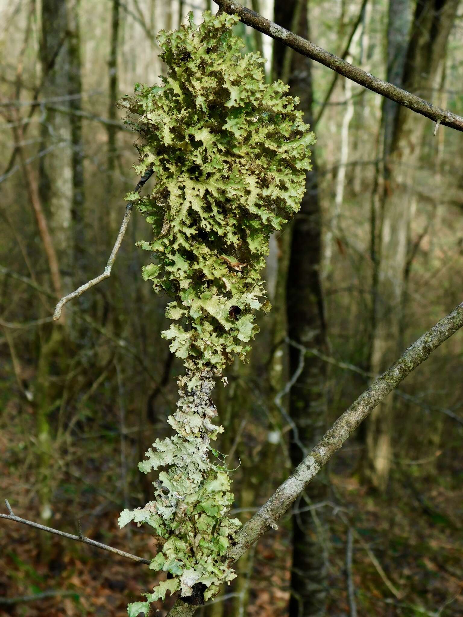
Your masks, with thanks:
[[(65, 107), (65, 112), (47, 109), (43, 130), (40, 193), (44, 209), (49, 213), (49, 227), (57, 254), (62, 293), (73, 289), (73, 272), (78, 250), (83, 251), (83, 152), (80, 118), (80, 37), (78, 2), (42, 1), (41, 64), (42, 97), (52, 105)], [(49, 67), (52, 67), (49, 69)], [(62, 352), (67, 333), (72, 329), (57, 325), (44, 329), (36, 375), (36, 424), (38, 431), (38, 495), (41, 520), (52, 516), (53, 431), (51, 412), (62, 397), (56, 371), (65, 371)], [(60, 362), (59, 358), (62, 358)], [(51, 377), (54, 377), (52, 380)], [(48, 545), (42, 545), (42, 559), (49, 558)]]

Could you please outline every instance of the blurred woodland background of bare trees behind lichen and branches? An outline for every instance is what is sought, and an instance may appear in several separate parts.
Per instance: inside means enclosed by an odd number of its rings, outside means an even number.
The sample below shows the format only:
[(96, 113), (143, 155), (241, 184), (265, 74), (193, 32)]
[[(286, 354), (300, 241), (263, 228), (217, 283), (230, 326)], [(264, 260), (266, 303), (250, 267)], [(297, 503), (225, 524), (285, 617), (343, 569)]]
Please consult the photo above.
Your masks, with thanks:
[[(115, 102), (163, 67), (156, 34), (207, 0), (0, 1), (0, 494), (15, 513), (150, 557), (117, 527), (150, 499), (137, 470), (170, 434), (175, 376), (166, 299), (141, 279), (149, 227)], [(251, 4), (248, 5), (251, 8)], [(269, 19), (364, 70), (463, 114), (457, 0), (252, 0)], [(323, 428), (461, 302), (463, 138), (238, 25), (283, 78), (317, 144), (301, 213), (272, 238), (273, 305), (251, 362), (215, 402), (245, 521)], [(149, 182), (144, 190), (149, 191)], [(463, 615), (463, 365), (457, 333), (317, 476), (278, 531), (236, 566), (202, 617)], [(0, 524), (0, 615), (126, 614), (158, 576), (31, 528)], [(356, 603), (356, 607), (354, 604)], [(166, 603), (167, 606), (169, 603)], [(165, 615), (166, 608), (162, 608)]]

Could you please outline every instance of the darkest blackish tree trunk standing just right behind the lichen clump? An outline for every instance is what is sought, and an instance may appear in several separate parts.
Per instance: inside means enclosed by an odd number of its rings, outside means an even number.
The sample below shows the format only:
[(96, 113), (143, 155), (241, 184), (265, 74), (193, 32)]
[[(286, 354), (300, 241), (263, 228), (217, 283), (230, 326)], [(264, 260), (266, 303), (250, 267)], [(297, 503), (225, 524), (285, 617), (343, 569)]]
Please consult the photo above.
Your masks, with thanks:
[[(298, 0), (275, 2), (275, 21), (285, 28), (293, 23)], [(308, 38), (306, 2), (301, 11), (298, 34)], [(275, 75), (282, 67), (285, 51), (275, 44)], [(306, 112), (305, 121), (312, 123), (311, 60), (293, 54), (291, 59), (291, 94), (299, 96), (300, 108)], [(281, 70), (281, 69), (280, 69)], [(307, 174), (306, 194), (296, 224), (291, 229), (290, 255), (286, 280), (286, 307), (288, 334), (296, 343), (323, 349), (325, 346), (325, 320), (323, 317), (322, 290), (320, 287), (320, 203), (317, 160), (312, 151), (312, 171)], [(290, 231), (288, 230), (288, 232)], [(299, 365), (300, 352), (290, 347), (291, 375)], [(325, 426), (326, 365), (318, 358), (305, 358), (304, 369), (290, 395), (290, 415), (296, 426), (293, 434), (291, 458), (293, 464), (301, 461), (298, 444), (309, 449), (323, 434)], [(327, 493), (323, 478), (311, 484), (307, 497), (312, 501), (325, 499)], [(293, 569), (291, 573), (291, 617), (314, 617), (325, 614), (326, 556), (320, 526), (309, 512), (293, 518)]]

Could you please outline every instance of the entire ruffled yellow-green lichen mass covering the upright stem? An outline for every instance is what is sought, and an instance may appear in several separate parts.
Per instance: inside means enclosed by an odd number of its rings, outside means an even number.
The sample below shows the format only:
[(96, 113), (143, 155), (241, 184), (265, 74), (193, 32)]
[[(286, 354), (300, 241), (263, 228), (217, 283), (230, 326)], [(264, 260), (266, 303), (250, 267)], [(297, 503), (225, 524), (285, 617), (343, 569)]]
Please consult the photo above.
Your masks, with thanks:
[(167, 572), (146, 601), (129, 605), (130, 616), (147, 615), (167, 590), (202, 601), (235, 578), (227, 552), (240, 521), (227, 516), (228, 470), (211, 447), (223, 431), (211, 392), (216, 378), (226, 383), (227, 363), (245, 360), (256, 311), (270, 310), (260, 275), (269, 237), (298, 211), (311, 168), (315, 140), (298, 99), (282, 81), (265, 84), (258, 53), (243, 56), (237, 21), (206, 11), (199, 27), (190, 15), (180, 30), (162, 31), (167, 76), (160, 86), (136, 84), (119, 102), (141, 136), (135, 170), (156, 177), (151, 194), (126, 196), (154, 234), (139, 243), (152, 252), (143, 278), (171, 299), (162, 336), (186, 368), (168, 419), (176, 434), (156, 439), (139, 465), (163, 468), (154, 499), (119, 518), (121, 527), (151, 526), (159, 549), (150, 568)]

